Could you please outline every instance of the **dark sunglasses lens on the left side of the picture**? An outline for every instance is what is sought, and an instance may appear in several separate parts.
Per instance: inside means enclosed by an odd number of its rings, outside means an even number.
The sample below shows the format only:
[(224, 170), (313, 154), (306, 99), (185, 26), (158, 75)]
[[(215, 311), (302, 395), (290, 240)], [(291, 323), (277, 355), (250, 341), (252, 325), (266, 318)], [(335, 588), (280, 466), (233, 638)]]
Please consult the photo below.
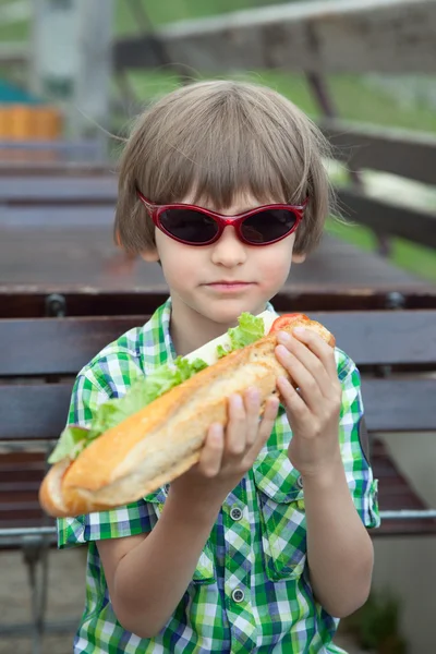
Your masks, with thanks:
[(171, 237), (185, 243), (208, 243), (218, 232), (217, 222), (195, 209), (167, 209), (159, 220)]

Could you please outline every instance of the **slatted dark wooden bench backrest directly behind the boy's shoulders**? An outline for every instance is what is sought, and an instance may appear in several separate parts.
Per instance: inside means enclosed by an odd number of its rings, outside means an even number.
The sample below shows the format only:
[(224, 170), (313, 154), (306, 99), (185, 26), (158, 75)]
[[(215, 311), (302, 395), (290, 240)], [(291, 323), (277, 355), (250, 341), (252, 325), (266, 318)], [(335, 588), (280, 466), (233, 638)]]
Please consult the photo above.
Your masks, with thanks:
[[(436, 312), (311, 313), (336, 335), (363, 373), (371, 431), (436, 428)], [(7, 319), (0, 322), (0, 439), (56, 438), (72, 379), (105, 344), (147, 316)], [(402, 371), (377, 378), (386, 366)], [(404, 371), (422, 371), (409, 378)], [(8, 380), (14, 378), (14, 383)], [(38, 379), (39, 378), (39, 379)], [(43, 378), (43, 379), (40, 379)], [(57, 384), (47, 384), (55, 378)], [(38, 420), (35, 420), (38, 415)]]

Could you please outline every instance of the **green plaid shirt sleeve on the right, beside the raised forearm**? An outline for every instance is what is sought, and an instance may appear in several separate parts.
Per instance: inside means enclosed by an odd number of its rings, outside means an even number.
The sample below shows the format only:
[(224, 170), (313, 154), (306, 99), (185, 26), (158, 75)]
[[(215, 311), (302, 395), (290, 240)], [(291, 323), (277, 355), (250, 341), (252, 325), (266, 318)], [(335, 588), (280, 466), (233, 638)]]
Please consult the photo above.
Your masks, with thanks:
[(374, 480), (366, 447), (366, 428), (361, 392), (361, 377), (355, 364), (342, 352), (338, 366), (342, 386), (339, 440), (347, 482), (355, 509), (367, 528), (380, 524), (377, 480)]

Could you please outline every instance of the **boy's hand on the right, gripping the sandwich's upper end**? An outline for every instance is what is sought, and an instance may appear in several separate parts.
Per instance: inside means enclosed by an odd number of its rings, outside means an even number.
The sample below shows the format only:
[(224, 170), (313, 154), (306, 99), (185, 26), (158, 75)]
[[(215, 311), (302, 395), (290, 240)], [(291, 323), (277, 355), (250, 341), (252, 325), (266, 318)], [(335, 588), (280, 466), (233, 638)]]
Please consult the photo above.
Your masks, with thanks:
[(342, 389), (335, 351), (310, 329), (277, 335), (276, 356), (299, 390), (284, 377), (277, 383), (292, 428), (289, 459), (301, 475), (318, 475), (340, 462), (339, 416)]

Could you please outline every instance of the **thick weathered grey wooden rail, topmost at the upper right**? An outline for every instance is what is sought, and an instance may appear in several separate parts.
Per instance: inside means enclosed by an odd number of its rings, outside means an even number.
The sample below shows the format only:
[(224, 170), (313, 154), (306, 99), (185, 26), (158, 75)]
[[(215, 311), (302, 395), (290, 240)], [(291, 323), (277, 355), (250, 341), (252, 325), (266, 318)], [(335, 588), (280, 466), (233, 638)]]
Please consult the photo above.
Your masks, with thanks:
[[(168, 59), (186, 70), (262, 69), (434, 73), (433, 0), (296, 2), (170, 24), (157, 31)], [(156, 68), (149, 37), (114, 46), (114, 65)]]

